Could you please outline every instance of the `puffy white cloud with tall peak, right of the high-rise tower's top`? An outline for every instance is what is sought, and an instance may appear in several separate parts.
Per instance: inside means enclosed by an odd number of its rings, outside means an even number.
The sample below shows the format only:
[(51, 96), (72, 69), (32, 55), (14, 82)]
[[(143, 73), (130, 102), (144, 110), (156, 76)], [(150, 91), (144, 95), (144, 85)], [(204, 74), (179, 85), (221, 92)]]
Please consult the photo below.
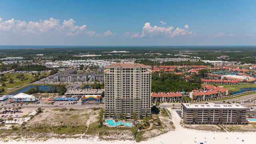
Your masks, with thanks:
[[(175, 37), (175, 36), (184, 36), (184, 35), (196, 35), (192, 31), (188, 31), (189, 26), (185, 25), (185, 29), (183, 28), (176, 28), (174, 31), (172, 31), (174, 28), (172, 26), (150, 26), (149, 22), (146, 22), (142, 28), (142, 34), (134, 33), (131, 35), (131, 38), (147, 38), (147, 37)], [(127, 33), (127, 32), (126, 32)]]

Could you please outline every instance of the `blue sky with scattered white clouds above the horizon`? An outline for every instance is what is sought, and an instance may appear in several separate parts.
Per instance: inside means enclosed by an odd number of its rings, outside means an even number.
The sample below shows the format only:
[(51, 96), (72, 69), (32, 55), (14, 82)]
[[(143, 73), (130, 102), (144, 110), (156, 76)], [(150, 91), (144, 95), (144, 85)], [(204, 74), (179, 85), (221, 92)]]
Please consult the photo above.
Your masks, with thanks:
[(256, 45), (255, 0), (0, 0), (0, 45)]

